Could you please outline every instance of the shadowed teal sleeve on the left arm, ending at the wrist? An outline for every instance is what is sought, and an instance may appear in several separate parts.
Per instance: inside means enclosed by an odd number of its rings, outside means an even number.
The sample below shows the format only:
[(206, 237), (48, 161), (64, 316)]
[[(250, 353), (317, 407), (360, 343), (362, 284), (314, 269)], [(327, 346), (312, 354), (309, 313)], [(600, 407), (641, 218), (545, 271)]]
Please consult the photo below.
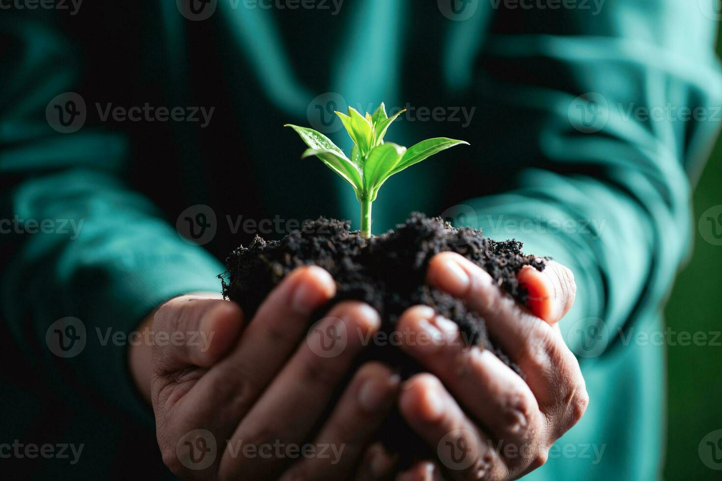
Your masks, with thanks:
[[(219, 291), (223, 268), (125, 185), (126, 138), (51, 128), (45, 107), (82, 81), (82, 69), (42, 12), (30, 13), (0, 17), (0, 317), (26, 356), (14, 362), (30, 363), (43, 384), (79, 406), (100, 402), (150, 420), (123, 336), (173, 296)], [(85, 331), (84, 348), (71, 358), (45, 341), (64, 317)]]

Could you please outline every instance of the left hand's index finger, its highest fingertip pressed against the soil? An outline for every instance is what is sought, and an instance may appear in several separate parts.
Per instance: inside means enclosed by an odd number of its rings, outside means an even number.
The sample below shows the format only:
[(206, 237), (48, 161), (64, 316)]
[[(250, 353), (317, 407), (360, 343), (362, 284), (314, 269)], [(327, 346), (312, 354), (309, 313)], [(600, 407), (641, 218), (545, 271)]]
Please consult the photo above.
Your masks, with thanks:
[(308, 330), (311, 312), (331, 299), (335, 289), (331, 275), (316, 266), (297, 268), (287, 275), (258, 308), (232, 352), (183, 398), (186, 414), (202, 420), (201, 425), (223, 419), (215, 434), (230, 436), (296, 350)]

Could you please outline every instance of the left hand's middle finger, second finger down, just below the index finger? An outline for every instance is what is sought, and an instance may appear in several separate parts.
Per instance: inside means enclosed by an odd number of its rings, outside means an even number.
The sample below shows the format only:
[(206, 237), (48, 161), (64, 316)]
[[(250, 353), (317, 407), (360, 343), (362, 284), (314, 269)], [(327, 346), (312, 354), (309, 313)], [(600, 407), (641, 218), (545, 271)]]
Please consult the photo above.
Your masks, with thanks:
[[(331, 309), (329, 317), (311, 328), (306, 342), (243, 418), (230, 442), (300, 444), (326, 410), (365, 340), (379, 327), (378, 313), (367, 304), (345, 301)], [(243, 473), (250, 479), (265, 479), (276, 475), (286, 462), (275, 456), (232, 456), (227, 450), (221, 473), (227, 478)]]

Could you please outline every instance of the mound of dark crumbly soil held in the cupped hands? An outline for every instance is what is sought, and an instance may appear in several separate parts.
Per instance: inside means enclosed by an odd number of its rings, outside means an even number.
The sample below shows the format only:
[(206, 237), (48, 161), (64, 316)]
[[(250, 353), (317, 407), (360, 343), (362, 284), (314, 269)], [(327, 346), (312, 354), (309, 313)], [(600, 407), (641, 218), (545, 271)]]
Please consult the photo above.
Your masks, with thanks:
[[(380, 332), (390, 335), (405, 309), (426, 304), (456, 322), (469, 344), (491, 350), (521, 374), (490, 339), (482, 317), (468, 311), (461, 301), (427, 285), (427, 266), (438, 252), (458, 252), (486, 270), (503, 291), (525, 304), (526, 291), (516, 281), (516, 273), (524, 265), (541, 271), (544, 260), (524, 255), (522, 243), (516, 240), (497, 242), (483, 237), (478, 229), (454, 229), (440, 218), (420, 213), (412, 213), (405, 224), (370, 239), (363, 239), (359, 231), (349, 231), (349, 226), (348, 221), (318, 219), (279, 241), (266, 242), (256, 237), (248, 247), (238, 247), (227, 258), (227, 272), (219, 276), (223, 295), (237, 302), (245, 318), (251, 319), (285, 275), (302, 265), (318, 265), (336, 281), (336, 296), (317, 313), (316, 319), (339, 301), (364, 301), (379, 312)], [(393, 343), (371, 343), (361, 357), (360, 362), (373, 359), (387, 363), (404, 377), (421, 370)], [(390, 423), (384, 431), (398, 431), (399, 423), (402, 420)], [(392, 437), (400, 441), (399, 436)], [(402, 451), (402, 458), (403, 451), (412, 450), (418, 456), (416, 449), (421, 449), (406, 441), (401, 443), (404, 447), (394, 441), (388, 444), (396, 445), (392, 449)]]

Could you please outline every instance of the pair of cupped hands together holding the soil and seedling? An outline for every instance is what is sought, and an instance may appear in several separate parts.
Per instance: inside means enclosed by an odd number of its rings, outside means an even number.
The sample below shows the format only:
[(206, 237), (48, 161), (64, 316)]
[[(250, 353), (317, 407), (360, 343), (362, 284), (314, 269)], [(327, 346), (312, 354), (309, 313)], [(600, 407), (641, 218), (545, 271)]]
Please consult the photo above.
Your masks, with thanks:
[[(425, 372), (400, 379), (383, 363), (365, 363), (340, 397), (334, 394), (381, 320), (357, 301), (311, 319), (335, 294), (325, 270), (294, 270), (252, 320), (217, 295), (168, 301), (142, 328), (196, 332), (207, 342), (131, 348), (131, 372), (152, 402), (163, 462), (175, 475), (203, 480), (521, 477), (544, 464), (554, 441), (583, 415), (588, 394), (556, 324), (574, 301), (573, 275), (547, 262), (543, 272), (525, 267), (517, 277), (529, 291), (527, 306), (455, 253), (436, 255), (427, 271), (432, 286), (484, 317), (526, 379), (489, 350), (466, 345), (455, 323), (414, 306), (399, 318), (397, 338)], [(332, 355), (329, 335), (344, 340)], [(399, 469), (373, 442), (394, 405), (435, 459)]]

